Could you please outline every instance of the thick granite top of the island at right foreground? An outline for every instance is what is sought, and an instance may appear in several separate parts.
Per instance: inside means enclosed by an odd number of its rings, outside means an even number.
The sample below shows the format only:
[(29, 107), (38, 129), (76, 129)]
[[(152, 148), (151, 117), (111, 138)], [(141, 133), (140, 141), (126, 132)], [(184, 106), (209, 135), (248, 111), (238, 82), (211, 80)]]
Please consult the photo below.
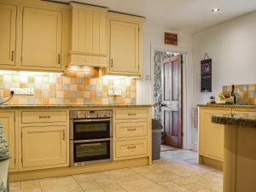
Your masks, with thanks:
[(256, 128), (256, 114), (215, 114), (212, 123)]

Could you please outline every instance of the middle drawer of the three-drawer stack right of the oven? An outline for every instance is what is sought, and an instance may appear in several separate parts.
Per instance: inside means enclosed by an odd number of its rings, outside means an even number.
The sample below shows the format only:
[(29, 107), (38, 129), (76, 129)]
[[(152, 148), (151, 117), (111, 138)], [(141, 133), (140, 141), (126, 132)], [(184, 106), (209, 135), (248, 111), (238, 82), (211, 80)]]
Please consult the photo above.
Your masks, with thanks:
[(140, 137), (147, 135), (147, 121), (115, 124), (115, 137)]

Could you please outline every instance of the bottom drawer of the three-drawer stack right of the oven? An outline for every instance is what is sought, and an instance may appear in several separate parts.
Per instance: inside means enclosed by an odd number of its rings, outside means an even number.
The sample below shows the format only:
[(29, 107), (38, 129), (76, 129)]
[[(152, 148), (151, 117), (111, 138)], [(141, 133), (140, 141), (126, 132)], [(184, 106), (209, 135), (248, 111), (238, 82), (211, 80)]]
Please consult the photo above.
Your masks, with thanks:
[(116, 158), (127, 158), (148, 154), (148, 139), (136, 139), (115, 142)]

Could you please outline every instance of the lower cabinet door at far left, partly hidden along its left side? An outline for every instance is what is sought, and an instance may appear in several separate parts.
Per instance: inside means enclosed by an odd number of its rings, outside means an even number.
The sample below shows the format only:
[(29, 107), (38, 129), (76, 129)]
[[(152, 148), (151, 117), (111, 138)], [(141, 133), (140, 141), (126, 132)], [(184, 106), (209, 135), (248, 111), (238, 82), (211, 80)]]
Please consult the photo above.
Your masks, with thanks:
[(0, 122), (3, 124), (4, 135), (7, 139), (11, 159), (9, 160), (9, 170), (15, 171), (15, 112), (1, 112)]

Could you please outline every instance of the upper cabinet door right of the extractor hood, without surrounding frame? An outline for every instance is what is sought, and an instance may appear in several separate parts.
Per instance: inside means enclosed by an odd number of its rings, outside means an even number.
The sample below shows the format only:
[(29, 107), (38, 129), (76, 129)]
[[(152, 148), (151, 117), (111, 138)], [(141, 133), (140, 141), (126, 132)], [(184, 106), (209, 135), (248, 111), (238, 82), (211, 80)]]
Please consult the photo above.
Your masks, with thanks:
[(110, 68), (112, 72), (139, 72), (139, 26), (110, 20)]

